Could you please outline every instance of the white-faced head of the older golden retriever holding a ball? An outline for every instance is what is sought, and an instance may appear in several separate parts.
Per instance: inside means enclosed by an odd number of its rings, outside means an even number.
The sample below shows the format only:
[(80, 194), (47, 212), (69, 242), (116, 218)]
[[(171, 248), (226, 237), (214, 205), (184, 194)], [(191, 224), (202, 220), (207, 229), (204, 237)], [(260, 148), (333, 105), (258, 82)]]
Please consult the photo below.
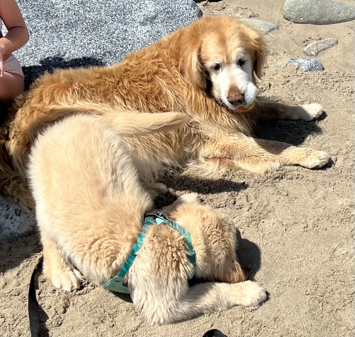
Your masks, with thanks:
[(182, 31), (180, 48), (180, 71), (188, 82), (231, 111), (252, 103), (266, 64), (260, 33), (233, 17), (207, 16)]

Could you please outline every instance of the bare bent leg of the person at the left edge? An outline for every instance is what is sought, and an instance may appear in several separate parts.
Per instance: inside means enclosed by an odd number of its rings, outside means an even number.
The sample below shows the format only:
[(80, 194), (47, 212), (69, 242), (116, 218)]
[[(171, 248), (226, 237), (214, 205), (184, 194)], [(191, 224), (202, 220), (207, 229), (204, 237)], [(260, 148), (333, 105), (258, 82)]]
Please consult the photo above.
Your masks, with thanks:
[(4, 76), (0, 77), (0, 104), (11, 104), (23, 90), (23, 77), (19, 74), (4, 71)]

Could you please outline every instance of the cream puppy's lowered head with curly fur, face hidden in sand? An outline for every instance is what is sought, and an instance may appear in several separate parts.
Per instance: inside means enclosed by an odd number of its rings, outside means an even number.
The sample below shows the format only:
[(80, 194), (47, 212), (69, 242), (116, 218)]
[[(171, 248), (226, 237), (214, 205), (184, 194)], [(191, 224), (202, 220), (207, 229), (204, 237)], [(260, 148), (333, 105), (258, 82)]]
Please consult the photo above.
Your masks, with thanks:
[(245, 281), (235, 254), (236, 229), (229, 217), (198, 203), (183, 204), (170, 216), (191, 234), (197, 278), (228, 283)]

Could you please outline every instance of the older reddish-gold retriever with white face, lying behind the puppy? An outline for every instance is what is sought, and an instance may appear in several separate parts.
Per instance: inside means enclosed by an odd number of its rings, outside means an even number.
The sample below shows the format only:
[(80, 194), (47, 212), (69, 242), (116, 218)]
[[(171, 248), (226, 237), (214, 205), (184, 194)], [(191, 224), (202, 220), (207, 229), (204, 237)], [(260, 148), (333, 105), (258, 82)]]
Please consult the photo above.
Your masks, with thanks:
[(17, 99), (16, 114), (2, 127), (3, 190), (33, 207), (26, 186), (31, 145), (43, 127), (77, 112), (103, 116), (116, 129), (122, 112), (186, 114), (187, 123), (176, 130), (123, 138), (147, 184), (164, 167), (192, 161), (254, 173), (289, 164), (322, 167), (326, 152), (251, 136), (260, 119), (309, 121), (323, 112), (316, 103), (288, 107), (259, 99), (253, 107), (266, 53), (263, 37), (250, 26), (206, 16), (119, 64), (45, 74)]

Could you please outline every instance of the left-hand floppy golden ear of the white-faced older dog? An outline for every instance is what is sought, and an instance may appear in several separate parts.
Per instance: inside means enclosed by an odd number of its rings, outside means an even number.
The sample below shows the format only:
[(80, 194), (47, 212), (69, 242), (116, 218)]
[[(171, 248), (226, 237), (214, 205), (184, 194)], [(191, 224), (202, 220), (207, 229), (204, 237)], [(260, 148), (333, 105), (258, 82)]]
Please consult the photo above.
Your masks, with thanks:
[[(195, 43), (194, 43), (195, 42)], [(206, 90), (206, 75), (200, 60), (202, 39), (196, 37), (182, 40), (181, 49), (185, 52), (180, 58), (179, 67), (182, 76), (192, 85)]]

